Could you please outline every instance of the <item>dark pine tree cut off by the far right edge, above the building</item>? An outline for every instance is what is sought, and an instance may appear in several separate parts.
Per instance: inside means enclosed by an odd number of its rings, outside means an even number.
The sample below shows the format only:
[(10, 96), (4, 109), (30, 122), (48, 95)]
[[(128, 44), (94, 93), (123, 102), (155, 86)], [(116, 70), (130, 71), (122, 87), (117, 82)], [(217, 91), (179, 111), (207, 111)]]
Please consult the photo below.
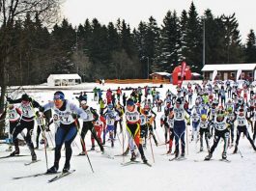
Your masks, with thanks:
[(245, 46), (245, 59), (246, 63), (256, 63), (256, 39), (255, 33), (252, 29), (247, 36)]

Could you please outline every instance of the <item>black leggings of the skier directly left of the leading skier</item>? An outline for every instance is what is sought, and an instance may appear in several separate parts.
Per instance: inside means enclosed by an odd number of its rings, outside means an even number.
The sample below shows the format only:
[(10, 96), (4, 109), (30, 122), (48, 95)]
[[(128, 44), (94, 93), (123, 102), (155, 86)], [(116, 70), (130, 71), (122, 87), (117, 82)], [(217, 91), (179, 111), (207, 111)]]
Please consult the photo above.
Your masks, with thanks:
[(14, 146), (15, 146), (15, 150), (19, 150), (18, 149), (18, 140), (17, 140), (17, 135), (24, 129), (27, 129), (27, 134), (24, 137), (27, 146), (29, 147), (30, 150), (34, 150), (34, 145), (33, 142), (31, 141), (31, 135), (33, 133), (33, 128), (34, 128), (34, 120), (31, 122), (25, 122), (23, 120), (20, 121), (20, 123), (18, 123), (15, 128), (14, 128), (14, 133), (13, 133), (13, 142), (14, 142)]

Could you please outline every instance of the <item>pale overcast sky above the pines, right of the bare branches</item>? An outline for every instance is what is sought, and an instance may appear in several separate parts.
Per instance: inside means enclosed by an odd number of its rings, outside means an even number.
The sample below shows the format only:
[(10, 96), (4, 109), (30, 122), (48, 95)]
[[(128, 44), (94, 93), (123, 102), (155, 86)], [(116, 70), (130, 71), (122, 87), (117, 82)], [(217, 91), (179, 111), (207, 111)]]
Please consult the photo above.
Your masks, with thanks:
[[(256, 30), (256, 0), (194, 0), (197, 12), (201, 15), (206, 9), (211, 9), (214, 15), (233, 14), (239, 20), (242, 41), (250, 29)], [(168, 10), (176, 10), (180, 15), (188, 11), (191, 0), (66, 0), (62, 14), (73, 26), (84, 23), (86, 18), (96, 17), (101, 24), (116, 22), (120, 17), (125, 19), (131, 29), (138, 23), (148, 21), (153, 15), (158, 25)]]

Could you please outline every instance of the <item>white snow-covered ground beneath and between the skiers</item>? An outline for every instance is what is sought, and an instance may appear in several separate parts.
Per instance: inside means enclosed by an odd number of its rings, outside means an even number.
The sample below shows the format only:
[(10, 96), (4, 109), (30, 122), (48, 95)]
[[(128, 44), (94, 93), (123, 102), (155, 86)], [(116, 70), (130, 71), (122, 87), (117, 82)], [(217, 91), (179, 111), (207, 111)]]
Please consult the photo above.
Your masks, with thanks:
[[(90, 83), (88, 87), (92, 90), (96, 84)], [(116, 89), (118, 86), (122, 87), (144, 87), (145, 84), (106, 84), (103, 89), (108, 87)], [(161, 95), (165, 95), (167, 89), (172, 91), (175, 87), (171, 85), (164, 85), (162, 89), (158, 89)], [(86, 91), (88, 91), (87, 89)], [(73, 93), (79, 93), (81, 90), (63, 90), (66, 97), (73, 102), (77, 102)], [(41, 104), (52, 99), (55, 91), (26, 91), (32, 95)], [(20, 92), (22, 94), (22, 92)], [(99, 105), (92, 101), (93, 94), (89, 95), (89, 104), (95, 108)], [(16, 95), (15, 95), (16, 96)], [(162, 97), (163, 98), (163, 97)], [(98, 108), (99, 109), (99, 108)], [(158, 142), (162, 143), (164, 140), (163, 129), (159, 125), (161, 113), (156, 116), (156, 138)], [(54, 127), (52, 126), (52, 131)], [(188, 131), (188, 139), (190, 139), (190, 131)], [(86, 136), (87, 149), (91, 147), (90, 132)], [(122, 143), (122, 135), (119, 136)], [(33, 136), (35, 141), (35, 135)], [(49, 140), (49, 138), (48, 138)], [(34, 142), (35, 143), (35, 142)], [(241, 138), (240, 150), (243, 157), (238, 154), (231, 154), (233, 149), (228, 150), (228, 159), (231, 163), (220, 162), (223, 143), (220, 142), (216, 150), (213, 152), (213, 159), (209, 162), (195, 162), (194, 160), (203, 160), (207, 155), (207, 151), (197, 153), (199, 146), (195, 147), (194, 143), (190, 143), (188, 153), (186, 153), (186, 160), (184, 161), (169, 161), (173, 156), (163, 155), (167, 151), (166, 146), (158, 146), (153, 143), (153, 151), (155, 156), (155, 163), (153, 162), (150, 142), (148, 141), (145, 155), (153, 167), (148, 167), (143, 164), (134, 164), (129, 166), (122, 166), (123, 160), (128, 161), (129, 156), (115, 157), (109, 159), (101, 155), (100, 152), (90, 151), (89, 157), (91, 159), (95, 173), (92, 173), (86, 156), (76, 156), (81, 151), (79, 143), (79, 136), (76, 137), (75, 143), (72, 146), (73, 156), (71, 158), (71, 169), (76, 172), (69, 177), (64, 177), (52, 183), (47, 183), (47, 180), (52, 176), (43, 177), (29, 177), (14, 180), (13, 177), (28, 176), (46, 171), (45, 156), (43, 145), (41, 150), (36, 150), (40, 162), (30, 166), (24, 166), (24, 163), (31, 160), (31, 156), (16, 157), (0, 159), (0, 191), (7, 190), (90, 190), (90, 191), (123, 191), (123, 190), (141, 190), (141, 191), (156, 191), (156, 190), (256, 190), (255, 168), (256, 168), (256, 153), (251, 149), (246, 138)], [(125, 141), (127, 147), (127, 141)], [(213, 140), (211, 140), (211, 145)], [(50, 147), (51, 143), (49, 142)], [(199, 143), (198, 143), (199, 144)], [(110, 146), (110, 143), (106, 143)], [(7, 145), (0, 145), (0, 156), (9, 154)], [(122, 146), (117, 139), (114, 149), (105, 147), (107, 152), (114, 154), (122, 153)], [(97, 147), (97, 150), (99, 148)], [(20, 154), (30, 155), (27, 147), (21, 147)], [(47, 150), (48, 165), (53, 164), (54, 151)], [(62, 155), (65, 155), (63, 150)], [(61, 158), (60, 170), (62, 170), (65, 158)]]

